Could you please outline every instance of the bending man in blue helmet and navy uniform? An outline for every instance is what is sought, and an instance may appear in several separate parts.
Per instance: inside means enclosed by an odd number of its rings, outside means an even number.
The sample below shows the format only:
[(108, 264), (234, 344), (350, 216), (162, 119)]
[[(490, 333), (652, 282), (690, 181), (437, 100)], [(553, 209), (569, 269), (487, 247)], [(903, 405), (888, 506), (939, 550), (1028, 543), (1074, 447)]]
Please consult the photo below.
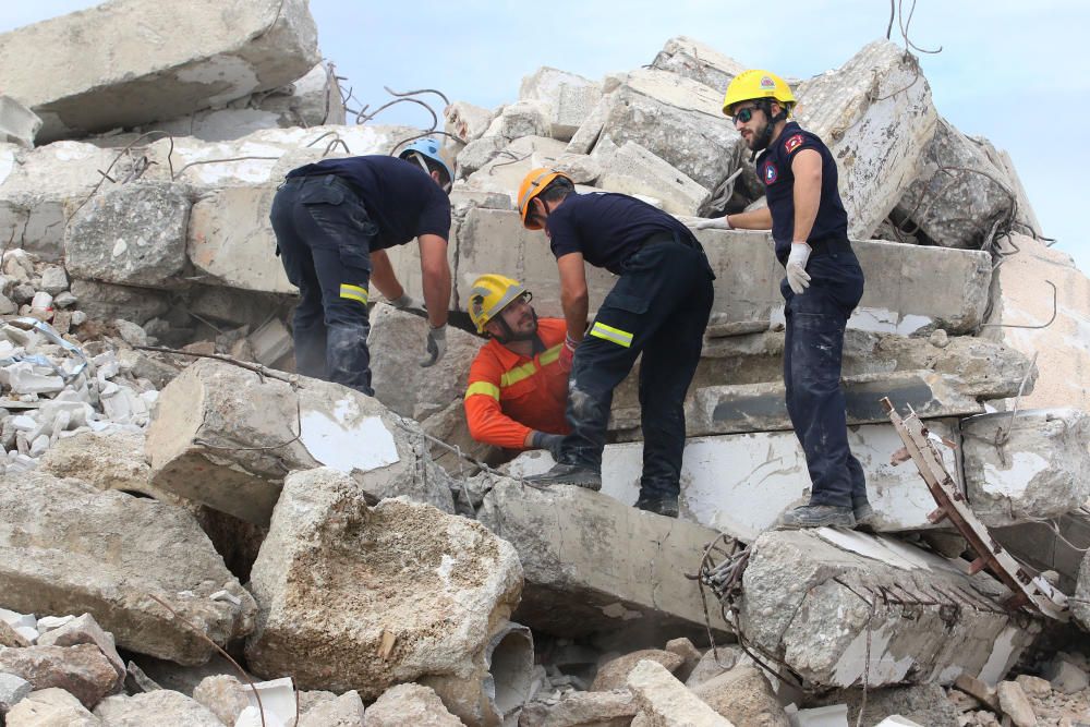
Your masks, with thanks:
[(288, 280), (299, 288), (292, 337), (295, 369), (374, 396), (367, 351), (368, 283), (396, 307), (414, 304), (386, 249), (420, 244), (429, 329), (420, 365), (446, 352), (450, 303), (452, 175), (435, 140), (410, 144), (399, 157), (363, 156), (293, 169), (272, 199), (269, 219)]

